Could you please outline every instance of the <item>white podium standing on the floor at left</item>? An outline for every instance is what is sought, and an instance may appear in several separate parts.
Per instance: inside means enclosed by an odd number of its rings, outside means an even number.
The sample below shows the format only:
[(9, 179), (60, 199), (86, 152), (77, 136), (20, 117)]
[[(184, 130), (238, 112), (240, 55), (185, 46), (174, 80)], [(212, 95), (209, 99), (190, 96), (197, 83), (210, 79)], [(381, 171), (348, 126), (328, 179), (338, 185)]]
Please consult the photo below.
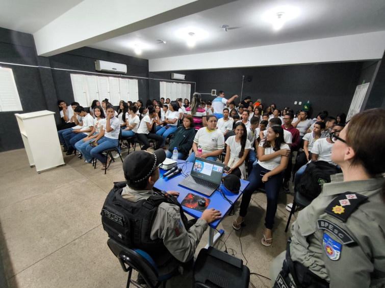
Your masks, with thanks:
[(42, 170), (65, 165), (54, 114), (48, 110), (15, 114), (30, 167), (35, 166), (39, 174)]

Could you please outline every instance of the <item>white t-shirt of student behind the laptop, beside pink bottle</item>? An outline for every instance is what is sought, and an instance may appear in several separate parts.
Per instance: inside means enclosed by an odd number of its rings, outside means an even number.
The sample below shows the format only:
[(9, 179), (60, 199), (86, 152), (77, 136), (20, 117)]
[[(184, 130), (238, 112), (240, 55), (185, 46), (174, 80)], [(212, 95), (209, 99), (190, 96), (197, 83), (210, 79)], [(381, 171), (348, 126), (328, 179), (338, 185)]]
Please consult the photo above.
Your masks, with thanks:
[(218, 129), (209, 131), (207, 127), (200, 128), (195, 134), (194, 142), (197, 144), (198, 149), (202, 149), (202, 153), (224, 148), (224, 137)]

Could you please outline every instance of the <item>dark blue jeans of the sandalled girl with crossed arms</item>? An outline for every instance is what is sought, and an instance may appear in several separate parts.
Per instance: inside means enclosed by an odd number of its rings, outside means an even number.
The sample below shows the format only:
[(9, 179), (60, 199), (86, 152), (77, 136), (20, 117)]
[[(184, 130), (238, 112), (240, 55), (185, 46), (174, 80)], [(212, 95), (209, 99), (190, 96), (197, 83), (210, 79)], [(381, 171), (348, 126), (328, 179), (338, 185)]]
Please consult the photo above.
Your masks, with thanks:
[[(252, 193), (258, 189), (262, 184), (261, 172), (269, 172), (270, 170), (263, 168), (260, 164), (257, 164), (251, 170), (251, 174), (247, 181), (249, 185), (243, 190), (241, 208), (239, 211), (239, 216), (245, 217), (247, 214), (247, 208), (250, 204)], [(267, 196), (267, 208), (266, 208), (266, 218), (265, 218), (265, 227), (272, 229), (274, 225), (275, 212), (277, 211), (277, 199), (279, 188), (284, 179), (284, 173), (280, 172), (269, 178), (269, 181), (265, 182), (265, 190)]]

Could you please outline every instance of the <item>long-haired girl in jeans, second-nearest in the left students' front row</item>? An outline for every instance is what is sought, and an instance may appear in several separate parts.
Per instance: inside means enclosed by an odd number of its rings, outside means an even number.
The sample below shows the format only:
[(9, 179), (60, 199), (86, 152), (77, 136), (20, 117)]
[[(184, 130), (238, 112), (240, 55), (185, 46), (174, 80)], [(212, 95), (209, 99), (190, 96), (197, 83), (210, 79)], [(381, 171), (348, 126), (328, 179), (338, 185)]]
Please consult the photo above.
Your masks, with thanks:
[(87, 147), (90, 146), (90, 142), (97, 142), (97, 140), (104, 136), (106, 131), (104, 130), (104, 127), (106, 127), (106, 117), (103, 108), (101, 108), (100, 106), (95, 106), (93, 108), (93, 111), (94, 116), (96, 116), (96, 118), (94, 118), (93, 130), (88, 134), (87, 137), (75, 143), (75, 149), (82, 153), (84, 157), (84, 162), (86, 163), (90, 163), (92, 160), (91, 154), (87, 151)]

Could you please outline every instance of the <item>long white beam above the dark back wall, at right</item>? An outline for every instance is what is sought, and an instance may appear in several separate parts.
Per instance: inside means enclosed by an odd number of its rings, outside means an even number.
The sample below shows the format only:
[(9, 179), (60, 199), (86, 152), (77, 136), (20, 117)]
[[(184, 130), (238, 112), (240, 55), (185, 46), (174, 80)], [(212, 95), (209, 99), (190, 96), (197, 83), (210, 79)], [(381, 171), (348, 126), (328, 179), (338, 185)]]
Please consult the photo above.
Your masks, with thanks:
[(149, 60), (149, 71), (178, 71), (381, 59), (385, 31)]

